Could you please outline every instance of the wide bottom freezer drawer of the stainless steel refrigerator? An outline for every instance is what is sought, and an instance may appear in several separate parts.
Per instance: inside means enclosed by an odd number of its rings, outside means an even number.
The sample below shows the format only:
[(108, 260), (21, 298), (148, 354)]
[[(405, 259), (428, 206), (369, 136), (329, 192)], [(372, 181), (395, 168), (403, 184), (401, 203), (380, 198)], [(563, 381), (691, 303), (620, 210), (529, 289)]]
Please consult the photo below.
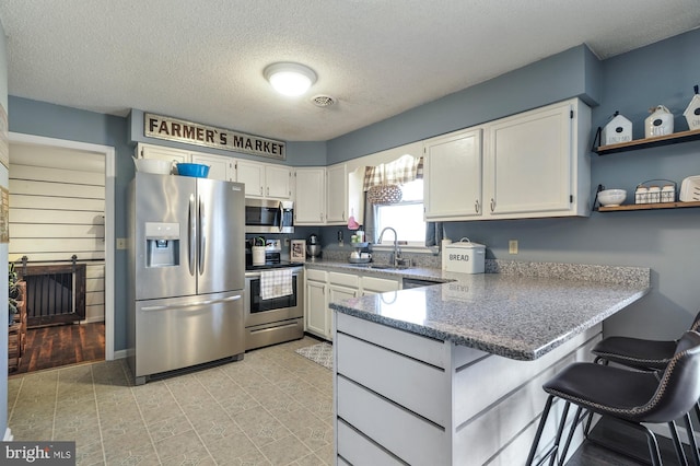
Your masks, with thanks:
[(242, 291), (137, 302), (135, 376), (242, 354)]

